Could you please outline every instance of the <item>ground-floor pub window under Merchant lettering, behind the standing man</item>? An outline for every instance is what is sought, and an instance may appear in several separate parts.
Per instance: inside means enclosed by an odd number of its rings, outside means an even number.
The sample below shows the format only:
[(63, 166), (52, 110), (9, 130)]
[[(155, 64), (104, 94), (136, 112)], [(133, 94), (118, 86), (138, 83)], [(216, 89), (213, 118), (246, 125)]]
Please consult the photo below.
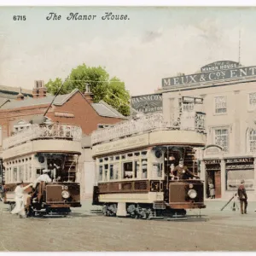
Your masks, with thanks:
[(254, 170), (230, 170), (227, 172), (227, 190), (237, 191), (241, 184), (241, 179), (244, 179), (245, 188), (253, 190), (254, 188)]

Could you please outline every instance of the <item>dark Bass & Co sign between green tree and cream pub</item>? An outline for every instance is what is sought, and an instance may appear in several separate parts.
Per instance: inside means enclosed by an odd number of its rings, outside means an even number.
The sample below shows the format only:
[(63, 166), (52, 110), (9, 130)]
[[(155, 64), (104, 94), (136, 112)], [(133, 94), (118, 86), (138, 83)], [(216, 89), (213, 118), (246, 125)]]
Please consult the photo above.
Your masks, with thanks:
[(161, 94), (151, 94), (131, 97), (131, 108), (143, 113), (153, 113), (163, 110)]

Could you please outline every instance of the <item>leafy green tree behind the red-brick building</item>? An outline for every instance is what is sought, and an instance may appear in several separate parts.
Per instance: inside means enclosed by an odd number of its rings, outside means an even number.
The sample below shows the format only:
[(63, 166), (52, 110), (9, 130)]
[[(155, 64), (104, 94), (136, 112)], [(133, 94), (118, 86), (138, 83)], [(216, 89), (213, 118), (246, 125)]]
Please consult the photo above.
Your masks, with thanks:
[[(61, 84), (61, 79), (56, 78), (54, 81), (49, 79), (45, 86), (49, 93), (55, 95), (60, 89)], [(130, 114), (130, 94), (125, 90), (125, 83), (117, 77), (109, 79), (109, 74), (103, 67), (88, 67), (82, 64), (73, 68), (64, 82), (60, 94), (70, 93), (75, 88), (84, 93), (86, 84), (90, 84), (90, 91), (94, 95), (94, 102), (103, 100), (118, 110), (119, 113), (125, 116)]]

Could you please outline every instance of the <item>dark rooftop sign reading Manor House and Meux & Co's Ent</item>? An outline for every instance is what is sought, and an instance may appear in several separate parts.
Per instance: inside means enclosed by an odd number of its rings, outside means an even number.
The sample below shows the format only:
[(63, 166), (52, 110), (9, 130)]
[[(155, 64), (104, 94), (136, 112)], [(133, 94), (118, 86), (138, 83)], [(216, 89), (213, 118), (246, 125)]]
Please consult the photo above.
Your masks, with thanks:
[(201, 73), (162, 79), (162, 87), (165, 89), (173, 85), (219, 82), (221, 80), (241, 79), (252, 76), (256, 76), (256, 66), (241, 67), (238, 62), (234, 61), (216, 61), (201, 67)]

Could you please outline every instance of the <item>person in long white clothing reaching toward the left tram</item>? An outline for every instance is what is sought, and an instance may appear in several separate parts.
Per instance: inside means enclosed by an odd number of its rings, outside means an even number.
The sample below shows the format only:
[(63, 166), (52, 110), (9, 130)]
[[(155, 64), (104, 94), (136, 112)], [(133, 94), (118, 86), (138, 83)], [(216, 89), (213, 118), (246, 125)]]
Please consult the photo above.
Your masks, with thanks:
[(19, 214), (20, 217), (25, 217), (25, 202), (24, 202), (24, 191), (31, 187), (32, 183), (24, 187), (23, 182), (20, 181), (17, 183), (17, 187), (15, 189), (15, 208), (11, 212), (12, 214)]

